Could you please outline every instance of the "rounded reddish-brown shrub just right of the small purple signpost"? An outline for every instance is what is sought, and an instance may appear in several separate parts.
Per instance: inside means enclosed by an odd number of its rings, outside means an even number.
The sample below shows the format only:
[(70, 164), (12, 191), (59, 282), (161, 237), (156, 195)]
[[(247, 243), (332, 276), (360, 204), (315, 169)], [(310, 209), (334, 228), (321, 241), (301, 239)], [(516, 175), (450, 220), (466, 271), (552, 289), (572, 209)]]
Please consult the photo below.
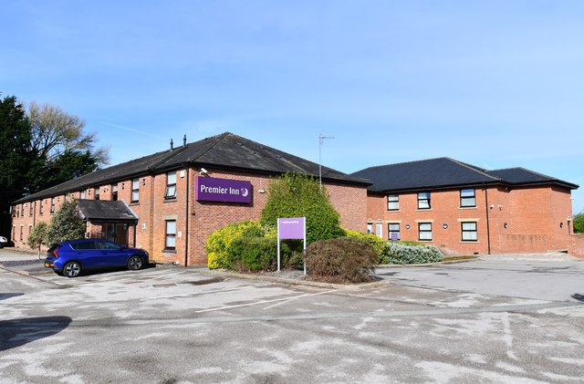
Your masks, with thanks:
[(369, 282), (379, 262), (379, 255), (370, 244), (353, 237), (310, 244), (305, 258), (312, 278), (332, 283)]

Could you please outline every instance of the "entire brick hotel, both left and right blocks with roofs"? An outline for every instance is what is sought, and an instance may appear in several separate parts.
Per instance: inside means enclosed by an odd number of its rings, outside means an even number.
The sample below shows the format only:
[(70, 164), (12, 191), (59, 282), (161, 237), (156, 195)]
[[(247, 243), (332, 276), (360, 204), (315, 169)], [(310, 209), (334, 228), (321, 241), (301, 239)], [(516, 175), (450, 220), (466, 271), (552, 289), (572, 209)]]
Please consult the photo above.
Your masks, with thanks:
[[(26, 248), (68, 195), (90, 237), (144, 248), (158, 262), (204, 265), (209, 234), (259, 219), (270, 177), (318, 164), (223, 133), (114, 165), (36, 192), (12, 206), (12, 240)], [(584, 255), (572, 229), (578, 185), (523, 168), (487, 171), (449, 158), (370, 167), (351, 175), (322, 167), (343, 228), (434, 244), (454, 254)]]

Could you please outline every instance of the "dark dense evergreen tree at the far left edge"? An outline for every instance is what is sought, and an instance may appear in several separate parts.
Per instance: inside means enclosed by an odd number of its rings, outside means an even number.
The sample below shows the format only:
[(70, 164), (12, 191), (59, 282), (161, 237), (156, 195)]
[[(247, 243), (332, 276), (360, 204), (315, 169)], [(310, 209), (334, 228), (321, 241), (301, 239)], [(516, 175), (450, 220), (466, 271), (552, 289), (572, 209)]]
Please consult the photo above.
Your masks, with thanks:
[(26, 112), (14, 96), (0, 100), (0, 234), (10, 236), (10, 202), (26, 193), (34, 162)]

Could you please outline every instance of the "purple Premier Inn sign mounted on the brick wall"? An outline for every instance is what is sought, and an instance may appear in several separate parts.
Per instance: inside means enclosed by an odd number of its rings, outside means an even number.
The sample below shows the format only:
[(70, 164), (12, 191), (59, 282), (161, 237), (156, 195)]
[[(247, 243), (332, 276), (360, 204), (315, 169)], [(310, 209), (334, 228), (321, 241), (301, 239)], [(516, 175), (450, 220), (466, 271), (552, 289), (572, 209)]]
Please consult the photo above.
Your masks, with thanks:
[(241, 180), (197, 177), (197, 202), (252, 202), (252, 183)]

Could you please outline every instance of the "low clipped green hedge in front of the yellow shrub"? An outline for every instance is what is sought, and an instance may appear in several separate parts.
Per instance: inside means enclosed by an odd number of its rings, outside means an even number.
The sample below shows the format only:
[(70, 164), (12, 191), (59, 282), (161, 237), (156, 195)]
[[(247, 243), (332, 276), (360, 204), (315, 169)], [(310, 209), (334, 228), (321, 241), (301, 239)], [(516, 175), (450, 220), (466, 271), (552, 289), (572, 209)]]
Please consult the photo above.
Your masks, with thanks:
[[(280, 243), (281, 265), (290, 256), (287, 244)], [(228, 268), (241, 272), (276, 271), (277, 239), (273, 237), (239, 237), (227, 250)]]

